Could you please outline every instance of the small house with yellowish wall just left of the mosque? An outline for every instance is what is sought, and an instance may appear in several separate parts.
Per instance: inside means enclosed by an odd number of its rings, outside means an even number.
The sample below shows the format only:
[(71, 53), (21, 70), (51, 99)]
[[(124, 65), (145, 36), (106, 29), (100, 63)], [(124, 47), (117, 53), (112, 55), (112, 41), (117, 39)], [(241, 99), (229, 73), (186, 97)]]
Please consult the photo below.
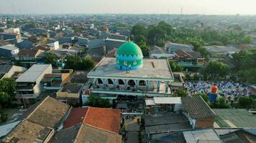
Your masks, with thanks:
[(67, 104), (76, 105), (79, 102), (82, 90), (81, 84), (67, 83), (57, 92), (57, 99)]

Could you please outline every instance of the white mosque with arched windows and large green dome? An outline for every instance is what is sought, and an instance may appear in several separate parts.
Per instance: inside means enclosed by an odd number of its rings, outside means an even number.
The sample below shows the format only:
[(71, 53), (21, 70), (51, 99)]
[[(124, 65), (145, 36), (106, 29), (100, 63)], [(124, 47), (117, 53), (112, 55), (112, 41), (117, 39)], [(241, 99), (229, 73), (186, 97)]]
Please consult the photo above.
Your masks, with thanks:
[(170, 96), (173, 72), (167, 59), (143, 59), (132, 41), (122, 44), (116, 58), (104, 57), (87, 75), (96, 94)]

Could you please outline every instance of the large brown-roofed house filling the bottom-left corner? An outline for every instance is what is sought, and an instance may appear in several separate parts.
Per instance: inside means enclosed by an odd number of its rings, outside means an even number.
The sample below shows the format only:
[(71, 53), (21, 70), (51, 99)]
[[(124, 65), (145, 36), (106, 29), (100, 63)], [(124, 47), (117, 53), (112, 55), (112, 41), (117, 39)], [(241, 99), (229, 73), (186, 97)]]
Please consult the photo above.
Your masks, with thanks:
[(29, 107), (19, 124), (4, 137), (2, 142), (44, 142), (47, 143), (62, 127), (70, 107), (52, 97), (46, 97), (35, 106)]

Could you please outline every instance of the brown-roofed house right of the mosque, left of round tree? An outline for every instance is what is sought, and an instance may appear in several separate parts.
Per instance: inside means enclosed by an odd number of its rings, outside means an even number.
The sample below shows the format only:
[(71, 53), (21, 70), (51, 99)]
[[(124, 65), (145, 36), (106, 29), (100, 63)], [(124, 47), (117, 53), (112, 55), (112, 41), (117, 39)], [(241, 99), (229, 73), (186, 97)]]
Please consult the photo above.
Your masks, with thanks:
[(174, 51), (175, 57), (173, 61), (178, 61), (180, 66), (190, 67), (193, 65), (203, 65), (205, 63), (205, 58), (201, 56), (200, 52), (198, 51), (183, 51), (178, 50)]

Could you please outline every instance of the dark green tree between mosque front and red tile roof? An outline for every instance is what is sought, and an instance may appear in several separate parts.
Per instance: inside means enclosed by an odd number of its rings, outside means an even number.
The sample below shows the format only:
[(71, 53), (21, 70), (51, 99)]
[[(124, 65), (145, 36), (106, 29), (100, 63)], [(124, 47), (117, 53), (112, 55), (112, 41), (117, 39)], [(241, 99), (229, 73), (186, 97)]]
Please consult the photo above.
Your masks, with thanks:
[(86, 103), (90, 107), (104, 107), (109, 108), (112, 105), (109, 103), (108, 99), (101, 99), (101, 97), (96, 95), (90, 95)]

